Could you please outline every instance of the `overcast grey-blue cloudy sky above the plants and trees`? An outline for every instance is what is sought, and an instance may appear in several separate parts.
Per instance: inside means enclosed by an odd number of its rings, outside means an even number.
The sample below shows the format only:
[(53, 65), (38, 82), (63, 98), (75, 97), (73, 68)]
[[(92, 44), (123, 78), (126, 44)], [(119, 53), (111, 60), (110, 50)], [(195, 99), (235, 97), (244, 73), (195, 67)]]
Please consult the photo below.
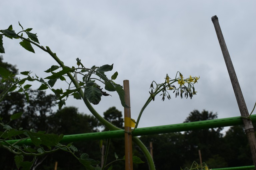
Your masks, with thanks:
[[(153, 80), (200, 76), (192, 100), (175, 98), (163, 102), (157, 96), (142, 115), (138, 127), (182, 123), (193, 110), (218, 113), (218, 118), (240, 116), (227, 68), (211, 17), (217, 15), (244, 98), (251, 112), (256, 101), (256, 2), (248, 1), (2, 1), (0, 30), (13, 25), (21, 31), (33, 28), (39, 42), (49, 46), (67, 66), (76, 58), (88, 68), (114, 63), (116, 83), (130, 82), (131, 115), (137, 119), (149, 97)], [(20, 40), (3, 39), (4, 61), (19, 71), (31, 70), (39, 77), (57, 63), (34, 46), (35, 54), (22, 48)], [(32, 86), (38, 88), (40, 84)], [(57, 86), (63, 85), (58, 82)], [(103, 97), (95, 109), (103, 114), (115, 106), (123, 112), (118, 95)], [(67, 106), (90, 114), (82, 101), (69, 98)]]

